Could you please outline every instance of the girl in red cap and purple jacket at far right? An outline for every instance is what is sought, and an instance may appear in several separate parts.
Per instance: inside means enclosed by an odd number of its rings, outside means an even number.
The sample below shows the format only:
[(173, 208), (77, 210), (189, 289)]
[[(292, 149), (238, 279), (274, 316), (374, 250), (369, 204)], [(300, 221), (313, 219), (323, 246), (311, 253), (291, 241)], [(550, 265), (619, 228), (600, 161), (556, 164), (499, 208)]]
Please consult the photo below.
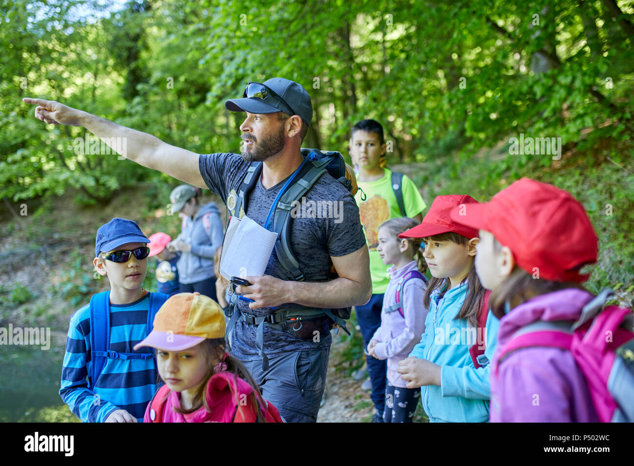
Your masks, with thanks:
[[(475, 269), (500, 318), (491, 370), (492, 422), (598, 422), (573, 354), (522, 347), (500, 354), (531, 325), (570, 327), (594, 296), (579, 269), (597, 261), (597, 235), (586, 210), (567, 191), (522, 178), (488, 204), (451, 217), (479, 228)], [(524, 330), (526, 332), (526, 330)]]

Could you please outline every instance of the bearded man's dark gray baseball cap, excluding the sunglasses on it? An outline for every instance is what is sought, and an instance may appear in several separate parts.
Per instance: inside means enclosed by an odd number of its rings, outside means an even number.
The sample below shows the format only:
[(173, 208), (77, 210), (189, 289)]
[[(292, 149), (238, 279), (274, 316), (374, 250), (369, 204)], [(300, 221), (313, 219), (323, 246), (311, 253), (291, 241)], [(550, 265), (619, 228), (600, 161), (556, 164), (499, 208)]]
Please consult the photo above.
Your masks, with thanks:
[[(304, 89), (301, 84), (284, 78), (271, 78), (262, 84), (278, 94), (278, 96), (290, 105), (295, 115), (299, 115), (306, 126), (310, 126), (311, 120), (313, 120), (313, 103), (311, 103), (311, 96), (308, 95), (306, 89)], [(286, 112), (285, 109), (264, 103), (264, 101), (256, 97), (230, 99), (224, 102), (224, 107), (230, 112)]]

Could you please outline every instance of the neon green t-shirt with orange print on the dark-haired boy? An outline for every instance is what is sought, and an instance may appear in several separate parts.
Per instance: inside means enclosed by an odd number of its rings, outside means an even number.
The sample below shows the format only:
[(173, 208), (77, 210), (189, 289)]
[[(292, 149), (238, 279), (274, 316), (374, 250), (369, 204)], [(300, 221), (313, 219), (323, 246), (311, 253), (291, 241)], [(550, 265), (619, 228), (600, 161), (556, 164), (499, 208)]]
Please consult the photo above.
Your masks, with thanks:
[[(359, 216), (365, 231), (368, 249), (370, 249), (370, 275), (372, 275), (373, 294), (385, 292), (387, 283), (390, 281), (387, 277), (387, 269), (392, 265), (384, 264), (378, 255), (378, 226), (389, 219), (401, 216), (396, 195), (392, 189), (392, 171), (387, 168), (384, 168), (384, 171), (383, 178), (376, 181), (358, 181), (359, 188), (366, 195), (365, 201), (361, 200), (361, 191), (357, 191), (354, 196), (359, 206)], [(417, 187), (406, 175), (403, 176), (401, 189), (403, 190), (406, 216), (417, 216), (427, 207)]]

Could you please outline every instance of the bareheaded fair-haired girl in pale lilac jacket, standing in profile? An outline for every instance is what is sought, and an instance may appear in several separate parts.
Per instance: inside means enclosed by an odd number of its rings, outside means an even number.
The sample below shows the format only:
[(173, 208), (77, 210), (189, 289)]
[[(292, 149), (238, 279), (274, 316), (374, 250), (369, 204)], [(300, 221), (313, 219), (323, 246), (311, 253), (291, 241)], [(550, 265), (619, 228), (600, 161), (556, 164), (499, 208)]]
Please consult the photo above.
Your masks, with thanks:
[[(378, 227), (377, 251), (389, 269), (390, 282), (385, 289), (381, 325), (368, 344), (368, 355), (387, 359), (384, 422), (412, 422), (420, 389), (406, 388), (396, 372), (425, 331), (427, 307), (423, 306), (427, 270), (420, 252), (422, 238), (400, 239), (399, 233), (417, 226), (408, 217), (388, 220)], [(397, 299), (398, 295), (398, 299)]]

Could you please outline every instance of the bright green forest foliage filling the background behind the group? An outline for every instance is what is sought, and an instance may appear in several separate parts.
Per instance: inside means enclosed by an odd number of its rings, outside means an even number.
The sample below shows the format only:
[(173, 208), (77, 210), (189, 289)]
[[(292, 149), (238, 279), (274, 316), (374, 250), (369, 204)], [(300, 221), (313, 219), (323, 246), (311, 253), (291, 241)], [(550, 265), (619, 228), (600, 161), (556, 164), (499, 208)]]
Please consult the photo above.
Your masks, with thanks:
[[(630, 283), (634, 48), (606, 5), (0, 2), (0, 197), (46, 201), (75, 188), (79, 204), (101, 205), (144, 186), (142, 213), (151, 216), (178, 183), (120, 160), (91, 136), (86, 145), (82, 128), (44, 125), (25, 96), (195, 152), (225, 152), (238, 149), (243, 115), (227, 112), (224, 100), (241, 96), (247, 81), (284, 76), (311, 94), (305, 146), (346, 153), (352, 124), (375, 118), (393, 143), (391, 164), (425, 167), (417, 179), (425, 200), (465, 190), (484, 200), (521, 176), (569, 189), (601, 241), (590, 287)], [(631, 2), (619, 6), (631, 25)], [(508, 140), (520, 134), (561, 138), (563, 160), (509, 156)], [(612, 216), (600, 214), (607, 204)], [(161, 222), (176, 233), (172, 219)], [(73, 301), (93, 283), (69, 278), (75, 286), (57, 291)]]

